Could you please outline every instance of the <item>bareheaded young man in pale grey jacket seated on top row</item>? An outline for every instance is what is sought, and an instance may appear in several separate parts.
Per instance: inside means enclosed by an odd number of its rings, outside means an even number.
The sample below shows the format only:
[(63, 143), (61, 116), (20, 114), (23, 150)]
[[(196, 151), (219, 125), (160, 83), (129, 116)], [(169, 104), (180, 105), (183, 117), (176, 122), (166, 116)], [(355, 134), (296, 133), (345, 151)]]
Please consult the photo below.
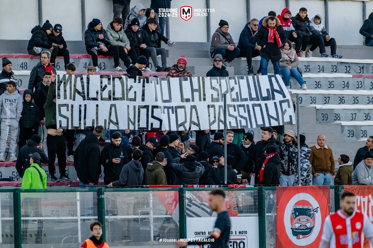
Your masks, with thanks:
[[(119, 51), (119, 58), (124, 62), (124, 65), (128, 68), (130, 64), (134, 64), (137, 60), (137, 54), (135, 49), (130, 46), (130, 41), (127, 38), (123, 28), (123, 19), (116, 17), (112, 22), (107, 25), (106, 33), (109, 38), (109, 43), (112, 46), (117, 46)], [(132, 62), (128, 59), (130, 56)]]

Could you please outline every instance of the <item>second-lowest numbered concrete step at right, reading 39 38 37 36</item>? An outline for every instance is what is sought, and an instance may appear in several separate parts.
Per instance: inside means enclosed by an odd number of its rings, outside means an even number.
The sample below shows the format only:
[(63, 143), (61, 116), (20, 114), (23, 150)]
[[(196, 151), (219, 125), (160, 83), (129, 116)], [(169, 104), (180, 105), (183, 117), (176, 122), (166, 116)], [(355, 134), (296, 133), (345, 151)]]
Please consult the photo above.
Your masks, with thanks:
[(316, 121), (320, 124), (340, 122), (365, 122), (373, 120), (373, 105), (310, 105), (316, 108)]

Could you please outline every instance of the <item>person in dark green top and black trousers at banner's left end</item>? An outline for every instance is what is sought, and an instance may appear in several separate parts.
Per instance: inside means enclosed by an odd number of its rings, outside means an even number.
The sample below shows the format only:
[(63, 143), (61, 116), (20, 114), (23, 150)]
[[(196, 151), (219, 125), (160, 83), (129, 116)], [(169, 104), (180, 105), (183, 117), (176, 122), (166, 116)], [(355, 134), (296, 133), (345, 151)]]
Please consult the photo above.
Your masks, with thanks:
[[(47, 99), (44, 104), (45, 111), (45, 126), (47, 128), (47, 144), (48, 144), (48, 169), (51, 175), (52, 182), (72, 182), (68, 175), (66, 174), (66, 144), (63, 135), (63, 130), (57, 128), (56, 120), (56, 95), (54, 94), (54, 85), (56, 80), (56, 75), (51, 76), (51, 84), (48, 89)], [(58, 179), (54, 174), (56, 168), (54, 162), (56, 160), (56, 155), (58, 158), (58, 169), (60, 172), (60, 178)]]

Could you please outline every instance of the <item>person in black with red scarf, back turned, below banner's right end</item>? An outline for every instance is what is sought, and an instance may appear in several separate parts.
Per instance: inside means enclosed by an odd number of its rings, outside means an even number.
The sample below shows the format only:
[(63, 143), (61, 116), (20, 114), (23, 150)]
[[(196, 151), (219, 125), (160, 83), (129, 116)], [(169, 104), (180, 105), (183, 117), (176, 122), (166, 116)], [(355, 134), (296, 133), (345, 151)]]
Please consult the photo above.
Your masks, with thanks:
[(259, 171), (258, 186), (279, 186), (281, 172), (281, 158), (275, 146), (269, 146), (265, 150), (266, 160)]

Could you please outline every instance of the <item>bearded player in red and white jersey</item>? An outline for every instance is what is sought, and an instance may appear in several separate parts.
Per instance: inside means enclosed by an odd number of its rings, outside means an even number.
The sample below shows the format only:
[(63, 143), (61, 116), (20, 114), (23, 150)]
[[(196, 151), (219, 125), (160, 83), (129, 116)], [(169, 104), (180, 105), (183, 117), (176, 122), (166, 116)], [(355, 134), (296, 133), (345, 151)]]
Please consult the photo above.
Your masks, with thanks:
[(344, 192), (339, 204), (341, 208), (324, 221), (319, 248), (328, 248), (331, 242), (336, 248), (360, 247), (362, 233), (373, 244), (373, 224), (368, 216), (355, 210), (355, 194)]

